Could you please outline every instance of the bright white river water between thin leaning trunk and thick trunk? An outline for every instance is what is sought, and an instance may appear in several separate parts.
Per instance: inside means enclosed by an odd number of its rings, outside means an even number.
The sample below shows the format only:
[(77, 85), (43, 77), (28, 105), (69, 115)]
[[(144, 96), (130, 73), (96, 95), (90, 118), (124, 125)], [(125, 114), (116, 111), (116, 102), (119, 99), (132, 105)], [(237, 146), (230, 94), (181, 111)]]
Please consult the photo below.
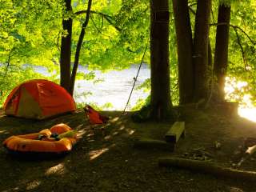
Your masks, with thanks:
[[(87, 74), (90, 71), (87, 70), (86, 67), (81, 66), (78, 72)], [(137, 72), (138, 65), (133, 65), (130, 69), (126, 70), (111, 70), (107, 73), (94, 70), (94, 79), (102, 79), (103, 81), (77, 80), (74, 88), (74, 99), (77, 103), (95, 103), (101, 107), (106, 103), (111, 103), (110, 107), (103, 107), (103, 109), (123, 110), (129, 98), (134, 83), (134, 77)], [(139, 72), (127, 110), (130, 110), (139, 98), (146, 98), (149, 95), (149, 93), (145, 93), (143, 90), (136, 89), (147, 78), (150, 78), (150, 69), (149, 66), (143, 65)], [(88, 92), (90, 92), (90, 94), (87, 94)]]

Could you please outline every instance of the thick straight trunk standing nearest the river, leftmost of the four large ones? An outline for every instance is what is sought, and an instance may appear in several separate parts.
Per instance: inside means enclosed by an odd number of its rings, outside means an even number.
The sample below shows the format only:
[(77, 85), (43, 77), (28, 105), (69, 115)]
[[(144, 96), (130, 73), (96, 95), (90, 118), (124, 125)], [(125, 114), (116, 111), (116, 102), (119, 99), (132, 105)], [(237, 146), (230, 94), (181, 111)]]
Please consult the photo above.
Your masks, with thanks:
[(166, 118), (171, 109), (169, 64), (169, 1), (151, 0), (150, 69), (152, 117)]

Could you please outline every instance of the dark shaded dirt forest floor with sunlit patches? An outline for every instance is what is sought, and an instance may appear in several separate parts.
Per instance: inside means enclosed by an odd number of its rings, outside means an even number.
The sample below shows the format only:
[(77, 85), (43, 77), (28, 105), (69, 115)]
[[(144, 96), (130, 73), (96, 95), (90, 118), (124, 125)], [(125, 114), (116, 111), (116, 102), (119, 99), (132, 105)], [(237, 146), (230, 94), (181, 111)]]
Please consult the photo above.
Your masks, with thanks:
[[(195, 110), (190, 106), (180, 111), (186, 137), (174, 152), (134, 149), (137, 138), (164, 140), (172, 122), (134, 123), (131, 113), (102, 112), (110, 116), (102, 131), (90, 125), (82, 110), (43, 121), (6, 117), (2, 112), (0, 142), (10, 135), (38, 132), (60, 122), (78, 130), (82, 138), (65, 157), (45, 160), (16, 158), (0, 146), (0, 191), (256, 191), (255, 182), (158, 166), (158, 158), (180, 157), (231, 167), (238, 161), (244, 139), (256, 138), (254, 122), (223, 107)], [(256, 156), (240, 169), (256, 171)]]

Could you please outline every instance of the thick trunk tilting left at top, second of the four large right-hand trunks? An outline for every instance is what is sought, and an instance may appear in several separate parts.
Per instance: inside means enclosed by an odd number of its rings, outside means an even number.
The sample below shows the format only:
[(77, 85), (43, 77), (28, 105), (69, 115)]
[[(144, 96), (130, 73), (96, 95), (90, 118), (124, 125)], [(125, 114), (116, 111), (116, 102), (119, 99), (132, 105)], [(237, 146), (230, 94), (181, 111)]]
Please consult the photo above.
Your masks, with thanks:
[(187, 0), (173, 0), (178, 48), (179, 103), (193, 102), (193, 39)]

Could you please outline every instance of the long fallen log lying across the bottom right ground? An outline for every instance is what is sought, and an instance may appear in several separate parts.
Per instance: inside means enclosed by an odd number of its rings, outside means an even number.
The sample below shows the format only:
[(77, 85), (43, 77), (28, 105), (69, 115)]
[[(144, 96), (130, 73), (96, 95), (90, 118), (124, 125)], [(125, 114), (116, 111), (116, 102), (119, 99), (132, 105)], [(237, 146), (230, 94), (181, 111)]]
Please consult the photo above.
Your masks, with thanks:
[(158, 165), (184, 168), (205, 174), (214, 174), (218, 177), (256, 181), (256, 172), (254, 171), (234, 170), (223, 166), (217, 166), (212, 162), (190, 160), (185, 158), (158, 158)]

